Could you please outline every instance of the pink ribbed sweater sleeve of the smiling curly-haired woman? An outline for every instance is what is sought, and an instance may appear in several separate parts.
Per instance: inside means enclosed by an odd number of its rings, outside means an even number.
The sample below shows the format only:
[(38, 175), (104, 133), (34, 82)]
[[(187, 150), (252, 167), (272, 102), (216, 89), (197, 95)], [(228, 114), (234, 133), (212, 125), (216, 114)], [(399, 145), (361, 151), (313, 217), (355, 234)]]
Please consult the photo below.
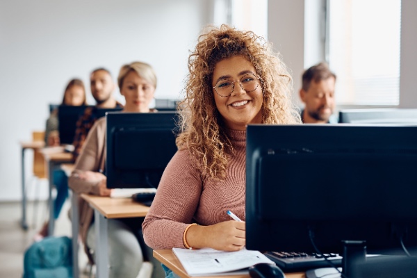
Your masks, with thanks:
[(142, 223), (149, 247), (154, 250), (184, 247), (183, 232), (193, 222), (202, 186), (202, 175), (192, 165), (188, 150), (178, 151), (165, 168), (154, 202)]

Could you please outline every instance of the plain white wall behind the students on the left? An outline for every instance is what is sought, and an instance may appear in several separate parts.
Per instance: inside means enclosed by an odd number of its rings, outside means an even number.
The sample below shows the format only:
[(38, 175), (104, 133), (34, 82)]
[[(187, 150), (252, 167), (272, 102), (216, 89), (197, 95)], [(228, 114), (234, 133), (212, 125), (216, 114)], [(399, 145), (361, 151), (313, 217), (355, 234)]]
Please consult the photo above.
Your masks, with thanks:
[(0, 1), (0, 201), (20, 198), (19, 140), (44, 129), (47, 104), (60, 102), (69, 79), (83, 79), (90, 95), (91, 70), (107, 67), (116, 80), (122, 64), (142, 60), (156, 70), (156, 96), (179, 97), (188, 50), (211, 22), (212, 6), (211, 0)]

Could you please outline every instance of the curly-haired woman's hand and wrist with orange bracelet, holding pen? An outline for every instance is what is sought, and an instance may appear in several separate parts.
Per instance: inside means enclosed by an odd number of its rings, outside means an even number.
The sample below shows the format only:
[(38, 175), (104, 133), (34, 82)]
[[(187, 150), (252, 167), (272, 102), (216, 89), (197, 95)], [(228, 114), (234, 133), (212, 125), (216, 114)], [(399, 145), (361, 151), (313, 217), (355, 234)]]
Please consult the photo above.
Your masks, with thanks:
[(187, 231), (186, 240), (193, 248), (238, 251), (246, 243), (245, 222), (230, 220), (210, 226), (192, 226)]

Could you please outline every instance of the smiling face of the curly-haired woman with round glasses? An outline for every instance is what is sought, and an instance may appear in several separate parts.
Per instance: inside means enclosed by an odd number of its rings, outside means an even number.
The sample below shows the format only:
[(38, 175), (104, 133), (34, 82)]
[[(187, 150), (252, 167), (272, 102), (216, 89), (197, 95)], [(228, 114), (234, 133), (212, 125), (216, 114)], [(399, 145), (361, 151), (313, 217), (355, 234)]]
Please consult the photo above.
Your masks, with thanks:
[[(257, 87), (256, 84), (253, 87), (256, 88), (255, 90), (252, 92), (243, 90), (243, 88), (247, 89), (247, 84), (252, 82), (258, 84)], [(231, 91), (233, 87), (231, 83), (234, 84), (231, 94), (228, 97), (220, 96), (218, 92), (222, 93), (222, 90), (225, 90), (222, 88), (228, 87), (229, 92)], [(261, 124), (262, 87), (254, 66), (245, 57), (234, 56), (216, 63), (212, 85), (213, 87), (217, 85), (217, 91), (213, 88), (215, 105), (229, 129), (246, 130), (247, 124)], [(222, 93), (222, 95), (228, 94)]]

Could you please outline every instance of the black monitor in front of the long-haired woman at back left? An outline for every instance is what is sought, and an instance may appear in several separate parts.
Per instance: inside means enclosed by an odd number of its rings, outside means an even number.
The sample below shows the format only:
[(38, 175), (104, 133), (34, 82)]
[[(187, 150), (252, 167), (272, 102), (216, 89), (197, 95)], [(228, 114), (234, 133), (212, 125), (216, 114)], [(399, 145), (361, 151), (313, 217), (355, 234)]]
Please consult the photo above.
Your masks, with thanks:
[(88, 106), (58, 106), (58, 131), (60, 144), (71, 145), (74, 142), (76, 122)]

